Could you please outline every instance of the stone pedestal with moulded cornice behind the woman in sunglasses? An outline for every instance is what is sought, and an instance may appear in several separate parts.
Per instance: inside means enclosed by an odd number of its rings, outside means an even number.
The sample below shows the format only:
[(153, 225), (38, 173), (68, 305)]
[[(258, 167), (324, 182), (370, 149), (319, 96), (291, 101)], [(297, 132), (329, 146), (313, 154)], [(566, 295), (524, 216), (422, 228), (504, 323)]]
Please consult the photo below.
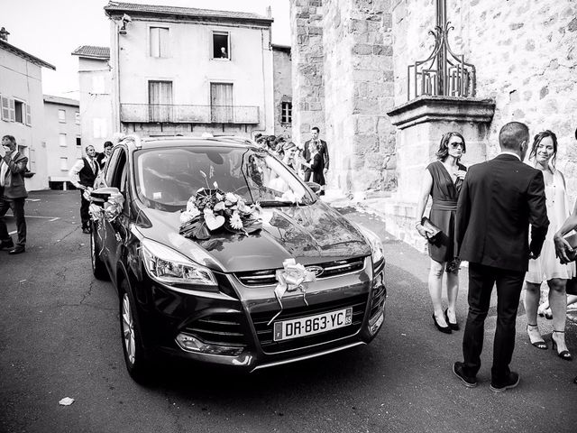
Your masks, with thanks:
[(391, 123), (398, 128), (398, 190), (384, 205), (390, 234), (425, 250), (426, 241), (415, 230), (423, 170), (436, 160), (443, 134), (452, 131), (465, 139), (465, 166), (485, 161), (494, 111), (492, 99), (429, 96), (417, 97), (389, 111)]

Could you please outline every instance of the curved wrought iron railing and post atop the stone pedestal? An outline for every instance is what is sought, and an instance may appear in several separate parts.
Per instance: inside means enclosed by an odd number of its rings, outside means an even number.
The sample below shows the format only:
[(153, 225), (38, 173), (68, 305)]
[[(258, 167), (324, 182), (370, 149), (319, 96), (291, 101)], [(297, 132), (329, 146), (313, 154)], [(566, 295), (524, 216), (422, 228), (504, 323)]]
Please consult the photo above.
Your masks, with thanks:
[(435, 37), (435, 48), (426, 60), (408, 65), (408, 100), (421, 95), (474, 97), (475, 67), (449, 45), (454, 27), (446, 21), (446, 0), (437, 0), (436, 9), (437, 25), (428, 32)]

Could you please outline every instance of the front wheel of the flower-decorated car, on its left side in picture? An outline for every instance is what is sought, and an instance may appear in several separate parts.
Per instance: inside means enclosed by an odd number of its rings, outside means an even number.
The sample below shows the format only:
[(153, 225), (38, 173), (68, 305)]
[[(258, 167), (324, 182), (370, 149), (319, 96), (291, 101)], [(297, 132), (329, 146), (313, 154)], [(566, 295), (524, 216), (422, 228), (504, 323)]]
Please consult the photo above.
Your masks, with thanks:
[(122, 281), (119, 293), (120, 336), (123, 345), (126, 370), (134, 382), (151, 382), (151, 360), (142, 345), (141, 330), (134, 315), (133, 297), (128, 282)]

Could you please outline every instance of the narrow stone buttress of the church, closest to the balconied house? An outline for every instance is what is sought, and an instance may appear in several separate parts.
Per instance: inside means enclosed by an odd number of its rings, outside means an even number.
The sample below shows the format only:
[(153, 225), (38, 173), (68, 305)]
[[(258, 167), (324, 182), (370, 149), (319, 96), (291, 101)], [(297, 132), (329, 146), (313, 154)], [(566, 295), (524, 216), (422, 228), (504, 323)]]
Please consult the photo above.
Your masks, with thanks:
[(310, 128), (325, 131), (323, 0), (290, 0), (292, 137), (304, 144)]

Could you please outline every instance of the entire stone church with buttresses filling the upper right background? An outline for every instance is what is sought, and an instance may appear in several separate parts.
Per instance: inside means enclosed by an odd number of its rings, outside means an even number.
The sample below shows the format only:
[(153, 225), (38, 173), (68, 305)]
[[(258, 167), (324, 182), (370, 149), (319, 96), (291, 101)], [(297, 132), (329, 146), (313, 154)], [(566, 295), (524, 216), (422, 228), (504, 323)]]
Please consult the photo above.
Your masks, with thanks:
[(435, 48), (427, 32), (437, 2), (291, 1), (294, 134), (321, 125), (334, 168), (329, 184), (386, 191), (387, 228), (409, 243), (418, 242), (422, 170), (447, 130), (463, 132), (470, 165), (499, 152), (497, 134), (509, 121), (532, 134), (551, 129), (557, 167), (577, 196), (577, 3), (446, 0), (450, 47), (476, 70), (476, 93), (463, 102), (409, 95), (408, 66)]

